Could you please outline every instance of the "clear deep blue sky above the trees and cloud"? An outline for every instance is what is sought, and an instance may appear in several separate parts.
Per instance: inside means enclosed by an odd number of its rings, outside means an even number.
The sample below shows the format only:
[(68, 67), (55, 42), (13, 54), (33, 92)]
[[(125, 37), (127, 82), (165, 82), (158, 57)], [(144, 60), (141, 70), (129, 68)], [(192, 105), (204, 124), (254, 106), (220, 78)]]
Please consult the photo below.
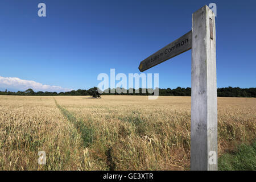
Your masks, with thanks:
[[(256, 87), (256, 1), (1, 0), (0, 76), (77, 90), (97, 86), (110, 68), (139, 73), (143, 59), (190, 31), (192, 13), (211, 2), (217, 87)], [(191, 51), (145, 73), (159, 73), (160, 88), (190, 87)]]

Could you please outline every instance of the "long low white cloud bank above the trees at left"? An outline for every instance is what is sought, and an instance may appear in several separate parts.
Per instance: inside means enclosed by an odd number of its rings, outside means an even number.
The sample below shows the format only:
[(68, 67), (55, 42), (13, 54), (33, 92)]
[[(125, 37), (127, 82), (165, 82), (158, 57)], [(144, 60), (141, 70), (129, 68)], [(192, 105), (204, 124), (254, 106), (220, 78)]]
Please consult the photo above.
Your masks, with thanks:
[(24, 91), (33, 89), (35, 92), (68, 92), (72, 89), (62, 88), (61, 86), (43, 85), (32, 80), (22, 80), (20, 78), (2, 77), (0, 76), (0, 88)]

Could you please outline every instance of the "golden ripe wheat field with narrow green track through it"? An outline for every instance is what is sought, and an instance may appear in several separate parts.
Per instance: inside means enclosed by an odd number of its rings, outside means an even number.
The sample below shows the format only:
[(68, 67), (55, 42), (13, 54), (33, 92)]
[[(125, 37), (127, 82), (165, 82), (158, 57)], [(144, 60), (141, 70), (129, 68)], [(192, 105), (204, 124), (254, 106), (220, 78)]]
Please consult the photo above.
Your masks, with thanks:
[[(218, 98), (219, 156), (255, 140), (255, 111)], [(0, 170), (189, 170), (190, 122), (191, 97), (0, 96)]]

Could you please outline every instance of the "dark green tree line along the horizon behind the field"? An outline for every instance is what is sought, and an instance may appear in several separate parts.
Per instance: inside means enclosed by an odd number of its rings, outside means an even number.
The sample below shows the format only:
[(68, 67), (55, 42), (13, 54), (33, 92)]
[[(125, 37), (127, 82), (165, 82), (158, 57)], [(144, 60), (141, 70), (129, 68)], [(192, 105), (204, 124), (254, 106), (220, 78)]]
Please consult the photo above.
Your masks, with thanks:
[[(92, 97), (100, 97), (100, 95), (129, 95), (129, 96), (150, 96), (154, 93), (148, 93), (146, 89), (146, 93), (142, 93), (142, 88), (137, 89), (136, 93), (135, 89), (133, 89), (133, 93), (129, 93), (129, 90), (126, 90), (126, 93), (117, 93), (115, 90), (120, 89), (110, 89), (109, 93), (98, 93), (97, 87), (90, 88), (88, 90), (72, 90), (69, 92), (34, 92), (32, 89), (27, 89), (24, 92), (18, 91), (18, 92), (7, 92), (7, 89), (5, 92), (0, 92), (0, 95), (11, 95), (11, 96), (92, 96)], [(112, 92), (114, 93), (111, 93)], [(177, 87), (176, 89), (160, 89), (159, 88), (159, 96), (191, 96), (191, 88), (181, 88)], [(217, 88), (217, 96), (218, 97), (256, 97), (256, 88), (239, 88), (239, 87), (226, 87), (226, 88)]]

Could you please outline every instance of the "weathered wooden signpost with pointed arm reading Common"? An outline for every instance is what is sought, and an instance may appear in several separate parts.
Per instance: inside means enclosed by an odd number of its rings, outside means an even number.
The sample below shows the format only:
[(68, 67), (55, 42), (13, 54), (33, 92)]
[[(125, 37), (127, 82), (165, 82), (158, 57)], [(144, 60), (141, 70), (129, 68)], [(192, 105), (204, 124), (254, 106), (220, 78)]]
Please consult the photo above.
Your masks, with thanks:
[(217, 170), (217, 84), (215, 16), (208, 6), (192, 14), (192, 31), (139, 64), (143, 72), (192, 49), (191, 170)]

